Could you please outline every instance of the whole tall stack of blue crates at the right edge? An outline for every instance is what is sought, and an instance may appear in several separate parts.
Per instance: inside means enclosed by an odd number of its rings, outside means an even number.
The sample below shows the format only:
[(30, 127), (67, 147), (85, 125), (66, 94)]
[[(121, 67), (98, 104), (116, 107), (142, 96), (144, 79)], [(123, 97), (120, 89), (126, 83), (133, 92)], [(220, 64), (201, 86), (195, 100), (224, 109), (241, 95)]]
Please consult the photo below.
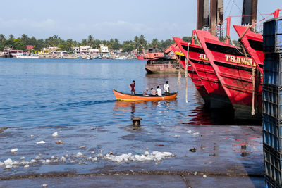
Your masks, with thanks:
[(264, 23), (263, 137), (266, 187), (282, 187), (282, 17)]

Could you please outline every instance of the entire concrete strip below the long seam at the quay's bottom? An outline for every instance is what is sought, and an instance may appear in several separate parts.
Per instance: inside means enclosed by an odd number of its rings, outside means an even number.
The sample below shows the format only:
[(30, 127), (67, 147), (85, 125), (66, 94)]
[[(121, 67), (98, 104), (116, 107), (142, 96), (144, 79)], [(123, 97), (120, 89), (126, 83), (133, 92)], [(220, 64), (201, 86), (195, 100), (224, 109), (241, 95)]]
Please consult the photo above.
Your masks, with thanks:
[(87, 175), (2, 180), (0, 187), (264, 187), (262, 177), (200, 175)]

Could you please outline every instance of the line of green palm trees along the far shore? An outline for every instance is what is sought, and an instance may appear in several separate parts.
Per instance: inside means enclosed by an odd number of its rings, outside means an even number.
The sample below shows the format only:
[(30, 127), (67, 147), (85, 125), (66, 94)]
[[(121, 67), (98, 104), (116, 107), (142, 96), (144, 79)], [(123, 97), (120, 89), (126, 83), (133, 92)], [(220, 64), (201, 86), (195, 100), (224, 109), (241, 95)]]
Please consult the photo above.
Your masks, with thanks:
[[(190, 42), (191, 37), (183, 37), (183, 40)], [(35, 51), (40, 51), (43, 48), (52, 46), (59, 47), (62, 51), (72, 53), (72, 47), (74, 46), (90, 45), (92, 48), (98, 49), (100, 44), (104, 44), (104, 46), (108, 46), (110, 50), (123, 49), (123, 52), (130, 52), (137, 49), (137, 53), (141, 53), (143, 49), (146, 51), (149, 48), (157, 48), (159, 50), (166, 49), (173, 43), (173, 39), (159, 41), (156, 38), (152, 39), (152, 42), (147, 42), (144, 35), (140, 35), (139, 37), (135, 36), (133, 40), (127, 40), (121, 43), (118, 39), (94, 39), (92, 35), (89, 35), (87, 39), (82, 39), (81, 42), (77, 42), (73, 39), (63, 40), (58, 35), (48, 37), (47, 39), (36, 39), (35, 37), (28, 37), (25, 34), (18, 38), (15, 38), (13, 35), (6, 37), (5, 35), (0, 34), (0, 51), (3, 51), (5, 47), (25, 51), (27, 45), (32, 45), (34, 46)]]

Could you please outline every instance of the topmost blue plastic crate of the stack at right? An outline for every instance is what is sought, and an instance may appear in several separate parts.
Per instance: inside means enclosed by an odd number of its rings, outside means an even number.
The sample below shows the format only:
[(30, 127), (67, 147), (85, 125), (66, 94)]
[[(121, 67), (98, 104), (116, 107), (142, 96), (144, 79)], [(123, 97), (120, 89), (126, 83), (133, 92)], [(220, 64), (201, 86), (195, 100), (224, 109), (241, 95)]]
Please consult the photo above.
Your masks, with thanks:
[(264, 22), (264, 52), (282, 52), (282, 17)]

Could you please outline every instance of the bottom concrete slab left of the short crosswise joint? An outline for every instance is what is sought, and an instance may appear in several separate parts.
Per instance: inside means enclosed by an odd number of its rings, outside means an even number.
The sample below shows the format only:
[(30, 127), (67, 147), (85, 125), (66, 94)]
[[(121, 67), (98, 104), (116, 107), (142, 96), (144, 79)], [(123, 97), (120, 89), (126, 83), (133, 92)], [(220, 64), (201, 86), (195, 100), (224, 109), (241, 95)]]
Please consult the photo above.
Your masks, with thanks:
[(118, 174), (7, 180), (0, 182), (0, 187), (42, 187), (42, 184), (47, 184), (47, 187), (186, 187), (179, 175)]

